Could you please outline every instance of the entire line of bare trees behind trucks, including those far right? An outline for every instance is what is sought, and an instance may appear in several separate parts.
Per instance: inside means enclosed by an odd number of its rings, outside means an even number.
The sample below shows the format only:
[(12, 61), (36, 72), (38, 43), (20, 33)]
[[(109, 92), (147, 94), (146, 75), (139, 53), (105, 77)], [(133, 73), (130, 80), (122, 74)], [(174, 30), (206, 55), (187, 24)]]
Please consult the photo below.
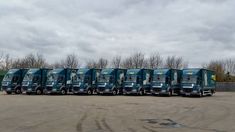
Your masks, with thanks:
[[(87, 68), (176, 68), (183, 69), (188, 67), (182, 57), (168, 56), (162, 57), (158, 52), (145, 55), (142, 52), (136, 52), (130, 56), (122, 58), (114, 56), (111, 60), (106, 58), (90, 59), (86, 62), (79, 60), (76, 54), (68, 54), (63, 59), (54, 63), (47, 62), (42, 54), (30, 53), (22, 58), (12, 58), (9, 54), (0, 53), (0, 70), (7, 71), (11, 68), (78, 68), (81, 65)], [(235, 81), (235, 59), (212, 60), (202, 65), (202, 68), (214, 70), (217, 75), (217, 81)]]

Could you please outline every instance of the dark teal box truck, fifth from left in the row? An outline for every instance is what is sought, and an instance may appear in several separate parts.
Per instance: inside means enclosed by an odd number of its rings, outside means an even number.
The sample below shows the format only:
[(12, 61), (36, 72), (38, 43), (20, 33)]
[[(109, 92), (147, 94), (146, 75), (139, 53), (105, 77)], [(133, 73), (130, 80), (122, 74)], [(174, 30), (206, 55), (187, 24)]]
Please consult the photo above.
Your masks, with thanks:
[(97, 82), (97, 94), (122, 94), (125, 74), (125, 69), (102, 69)]

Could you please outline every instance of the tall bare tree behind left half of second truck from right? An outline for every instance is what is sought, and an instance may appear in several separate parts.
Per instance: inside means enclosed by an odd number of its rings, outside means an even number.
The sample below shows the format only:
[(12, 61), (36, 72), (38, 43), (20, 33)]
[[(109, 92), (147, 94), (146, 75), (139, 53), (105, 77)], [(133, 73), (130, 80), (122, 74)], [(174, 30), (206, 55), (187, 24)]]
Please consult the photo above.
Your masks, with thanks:
[(163, 58), (158, 52), (154, 52), (148, 59), (149, 68), (159, 68), (162, 66)]

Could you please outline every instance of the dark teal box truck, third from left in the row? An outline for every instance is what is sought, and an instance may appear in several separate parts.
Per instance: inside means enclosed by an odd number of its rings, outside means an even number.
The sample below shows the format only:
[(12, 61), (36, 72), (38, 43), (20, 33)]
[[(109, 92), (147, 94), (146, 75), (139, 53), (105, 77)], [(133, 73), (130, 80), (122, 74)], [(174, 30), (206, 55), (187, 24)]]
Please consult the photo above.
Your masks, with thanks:
[(77, 69), (57, 68), (48, 73), (45, 94), (62, 94), (72, 92), (72, 81)]

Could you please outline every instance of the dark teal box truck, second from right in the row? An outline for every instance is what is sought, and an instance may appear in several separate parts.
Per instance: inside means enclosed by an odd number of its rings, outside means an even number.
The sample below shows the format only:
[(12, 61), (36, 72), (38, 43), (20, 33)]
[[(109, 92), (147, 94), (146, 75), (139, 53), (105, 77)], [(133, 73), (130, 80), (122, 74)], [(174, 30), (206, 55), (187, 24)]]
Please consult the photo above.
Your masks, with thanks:
[(153, 95), (180, 95), (182, 71), (177, 69), (154, 69), (151, 82)]

